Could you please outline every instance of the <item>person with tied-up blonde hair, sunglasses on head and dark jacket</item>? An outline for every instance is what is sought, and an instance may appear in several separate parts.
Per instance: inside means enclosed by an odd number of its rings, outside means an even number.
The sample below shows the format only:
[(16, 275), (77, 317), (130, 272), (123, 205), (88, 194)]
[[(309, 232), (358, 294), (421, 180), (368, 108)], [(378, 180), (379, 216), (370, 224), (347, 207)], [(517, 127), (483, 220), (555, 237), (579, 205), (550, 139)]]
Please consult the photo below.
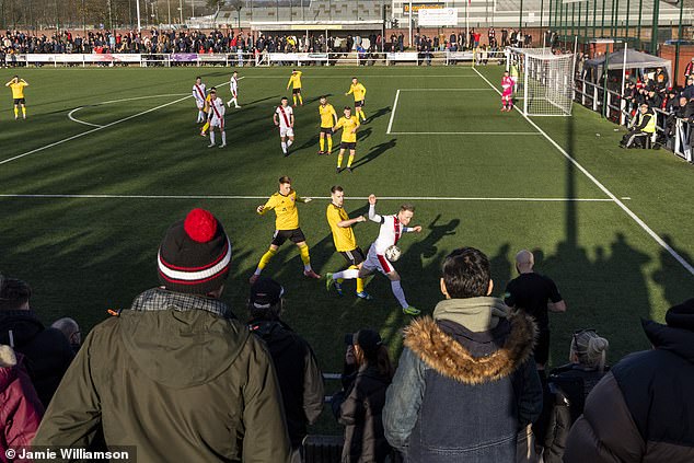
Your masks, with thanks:
[(604, 377), (608, 339), (593, 329), (574, 333), (569, 349), (570, 363), (555, 368), (547, 378), (545, 403), (542, 410), (544, 463), (560, 463), (566, 438), (574, 421), (583, 413), (586, 397)]

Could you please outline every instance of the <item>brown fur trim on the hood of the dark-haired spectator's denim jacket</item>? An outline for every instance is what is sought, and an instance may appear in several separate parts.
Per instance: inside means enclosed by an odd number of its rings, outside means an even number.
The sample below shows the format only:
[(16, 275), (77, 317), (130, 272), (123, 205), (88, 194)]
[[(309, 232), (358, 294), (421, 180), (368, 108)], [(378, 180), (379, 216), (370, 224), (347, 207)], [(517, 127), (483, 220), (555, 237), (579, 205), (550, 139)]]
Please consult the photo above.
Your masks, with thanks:
[[(493, 310), (491, 306), (489, 310)], [(447, 326), (453, 323), (449, 320), (441, 322), (446, 322)], [(464, 326), (458, 327), (474, 336)], [(497, 327), (486, 333), (493, 335), (495, 342), (498, 338), (500, 347), (482, 357), (473, 356), (469, 348), (429, 316), (413, 321), (404, 333), (405, 347), (428, 367), (465, 384), (482, 384), (510, 375), (530, 358), (537, 327), (530, 315), (509, 311)], [(470, 342), (474, 343), (472, 339)]]

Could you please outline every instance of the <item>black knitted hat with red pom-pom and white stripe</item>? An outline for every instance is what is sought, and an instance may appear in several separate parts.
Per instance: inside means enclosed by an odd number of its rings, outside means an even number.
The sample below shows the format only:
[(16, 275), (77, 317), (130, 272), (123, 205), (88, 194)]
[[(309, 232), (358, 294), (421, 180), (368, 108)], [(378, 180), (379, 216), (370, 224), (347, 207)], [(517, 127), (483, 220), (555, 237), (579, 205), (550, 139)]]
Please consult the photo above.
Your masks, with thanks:
[(229, 276), (231, 242), (209, 211), (193, 209), (169, 229), (159, 247), (159, 281), (169, 290), (207, 294)]

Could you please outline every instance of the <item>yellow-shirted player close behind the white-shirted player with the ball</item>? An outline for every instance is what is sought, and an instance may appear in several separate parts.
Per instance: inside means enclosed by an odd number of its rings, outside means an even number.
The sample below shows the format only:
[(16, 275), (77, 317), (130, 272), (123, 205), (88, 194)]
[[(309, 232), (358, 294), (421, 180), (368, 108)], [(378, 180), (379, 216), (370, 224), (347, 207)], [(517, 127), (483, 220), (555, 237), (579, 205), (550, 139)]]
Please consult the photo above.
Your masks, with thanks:
[[(356, 223), (366, 222), (367, 218), (365, 216), (358, 216), (350, 219), (347, 212), (345, 212), (345, 192), (342, 186), (335, 185), (331, 188), (331, 199), (332, 202), (327, 206), (325, 217), (327, 218), (327, 223), (331, 225), (335, 250), (347, 259), (350, 269), (358, 270), (367, 257), (363, 251), (361, 251), (361, 247), (357, 246), (357, 238), (351, 228)], [(326, 277), (331, 278), (332, 275), (333, 274), (327, 274)], [(339, 296), (343, 296), (342, 283), (342, 280), (333, 282)], [(363, 290), (363, 278), (357, 278), (357, 297), (367, 300), (373, 299), (371, 294)]]

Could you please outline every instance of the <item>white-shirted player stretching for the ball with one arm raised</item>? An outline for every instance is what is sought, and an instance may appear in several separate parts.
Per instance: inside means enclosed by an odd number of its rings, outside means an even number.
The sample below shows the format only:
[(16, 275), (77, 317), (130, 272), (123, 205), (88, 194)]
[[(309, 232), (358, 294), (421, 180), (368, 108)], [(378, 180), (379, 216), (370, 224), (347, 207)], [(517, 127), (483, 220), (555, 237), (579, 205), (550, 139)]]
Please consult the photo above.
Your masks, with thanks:
[(369, 195), (369, 220), (380, 223), (381, 230), (379, 231), (379, 238), (377, 238), (373, 244), (371, 244), (371, 247), (369, 247), (367, 259), (362, 264), (361, 269), (347, 269), (336, 274), (327, 274), (325, 276), (325, 283), (329, 290), (339, 278), (363, 278), (374, 270), (379, 270), (391, 280), (393, 296), (395, 296), (395, 299), (397, 299), (397, 302), (400, 302), (403, 308), (403, 313), (407, 315), (419, 315), (419, 310), (407, 303), (405, 292), (400, 283), (400, 275), (397, 270), (395, 270), (395, 267), (393, 267), (393, 264), (390, 263), (384, 255), (385, 250), (397, 244), (403, 233), (421, 232), (420, 225), (407, 227), (415, 215), (415, 208), (412, 205), (403, 205), (395, 215), (379, 216), (375, 213), (375, 196)]

